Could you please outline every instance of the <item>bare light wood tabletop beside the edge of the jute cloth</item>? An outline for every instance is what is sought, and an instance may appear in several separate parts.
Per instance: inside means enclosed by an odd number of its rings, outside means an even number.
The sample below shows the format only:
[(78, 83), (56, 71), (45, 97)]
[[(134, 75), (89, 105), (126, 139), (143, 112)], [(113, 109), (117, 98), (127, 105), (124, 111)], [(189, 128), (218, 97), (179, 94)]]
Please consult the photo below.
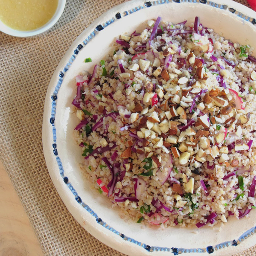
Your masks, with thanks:
[(0, 161), (0, 256), (43, 256), (28, 216)]

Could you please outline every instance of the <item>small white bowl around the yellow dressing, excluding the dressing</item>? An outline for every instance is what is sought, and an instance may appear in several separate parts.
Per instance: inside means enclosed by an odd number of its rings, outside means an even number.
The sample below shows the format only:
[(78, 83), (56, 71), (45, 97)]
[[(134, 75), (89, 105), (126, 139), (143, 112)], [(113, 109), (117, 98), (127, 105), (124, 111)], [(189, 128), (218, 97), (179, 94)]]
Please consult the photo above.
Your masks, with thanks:
[(41, 26), (38, 29), (33, 29), (29, 31), (20, 31), (20, 30), (12, 29), (9, 26), (6, 26), (6, 24), (0, 20), (0, 31), (2, 31), (7, 35), (13, 35), (17, 37), (29, 37), (29, 36), (41, 34), (46, 30), (48, 30), (49, 28), (51, 28), (58, 21), (58, 19), (61, 17), (62, 12), (64, 11), (65, 4), (66, 4), (66, 0), (58, 0), (58, 6), (55, 11), (55, 14), (46, 24), (44, 24), (44, 26)]

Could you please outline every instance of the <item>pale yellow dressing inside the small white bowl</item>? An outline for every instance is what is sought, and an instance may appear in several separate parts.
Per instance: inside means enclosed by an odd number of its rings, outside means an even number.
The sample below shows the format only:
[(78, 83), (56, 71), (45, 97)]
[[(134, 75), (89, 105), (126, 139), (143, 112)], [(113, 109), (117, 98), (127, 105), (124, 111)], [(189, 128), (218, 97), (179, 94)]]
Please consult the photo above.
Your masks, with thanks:
[(0, 20), (12, 29), (44, 26), (55, 14), (58, 0), (0, 0)]

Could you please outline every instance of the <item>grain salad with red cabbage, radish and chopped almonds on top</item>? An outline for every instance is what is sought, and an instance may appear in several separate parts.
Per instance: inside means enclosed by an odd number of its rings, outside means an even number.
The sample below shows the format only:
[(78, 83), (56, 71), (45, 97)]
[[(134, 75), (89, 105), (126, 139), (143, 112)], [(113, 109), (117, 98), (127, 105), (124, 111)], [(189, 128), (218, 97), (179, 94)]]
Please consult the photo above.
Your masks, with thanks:
[(256, 208), (252, 48), (198, 17), (148, 20), (113, 46), (91, 75), (76, 77), (72, 102), (92, 188), (138, 223), (199, 228), (248, 218)]

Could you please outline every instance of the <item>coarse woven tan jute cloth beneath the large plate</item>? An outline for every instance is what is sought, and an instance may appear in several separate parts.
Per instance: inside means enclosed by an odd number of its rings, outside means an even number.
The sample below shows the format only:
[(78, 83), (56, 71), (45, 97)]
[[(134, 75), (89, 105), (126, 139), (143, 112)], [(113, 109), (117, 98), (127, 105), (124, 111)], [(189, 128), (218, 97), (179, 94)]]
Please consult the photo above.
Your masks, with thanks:
[[(0, 159), (47, 256), (124, 256), (87, 233), (67, 211), (41, 143), (44, 98), (59, 61), (94, 19), (124, 2), (67, 0), (58, 23), (42, 35), (15, 38), (0, 32)], [(246, 0), (236, 2), (249, 6)], [(237, 254), (249, 255), (256, 255), (256, 247)]]

